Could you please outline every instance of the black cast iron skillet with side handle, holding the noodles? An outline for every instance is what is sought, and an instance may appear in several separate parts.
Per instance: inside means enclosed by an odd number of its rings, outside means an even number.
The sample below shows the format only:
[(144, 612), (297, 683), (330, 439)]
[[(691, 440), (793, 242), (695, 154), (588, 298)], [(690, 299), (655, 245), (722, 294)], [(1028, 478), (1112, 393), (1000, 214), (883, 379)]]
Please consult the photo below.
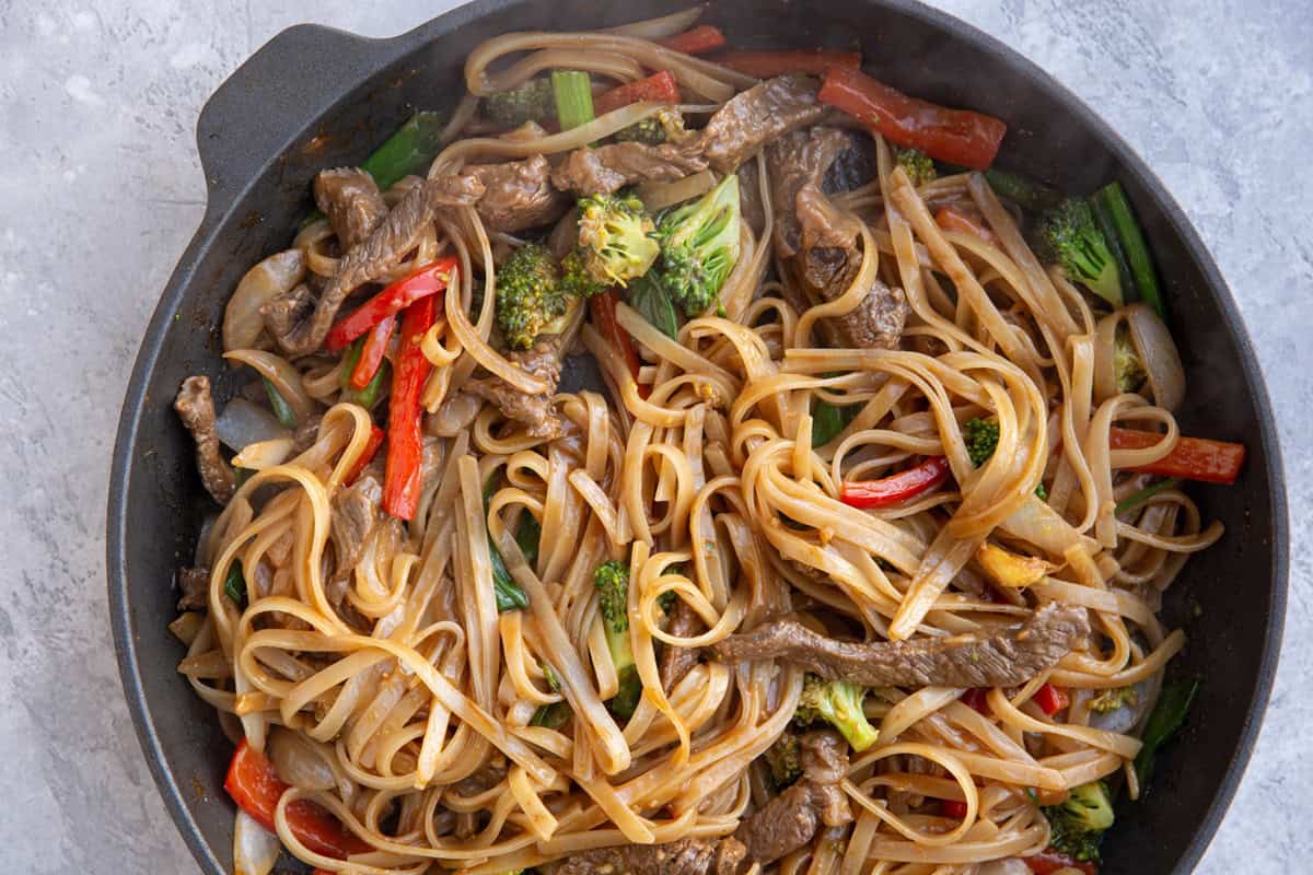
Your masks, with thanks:
[[(247, 60), (197, 126), (209, 202), (142, 342), (123, 401), (109, 493), (109, 602), (123, 689), (164, 802), (209, 875), (231, 871), (231, 746), (175, 670), (165, 630), (173, 571), (190, 560), (207, 504), (171, 401), (189, 374), (232, 391), (218, 325), (238, 278), (288, 245), (314, 173), (356, 164), (416, 108), (462, 93), (461, 66), (482, 39), (524, 29), (608, 26), (688, 0), (478, 0), (393, 39), (301, 25)], [(1232, 488), (1195, 488), (1226, 537), (1171, 589), (1167, 619), (1191, 644), (1174, 673), (1205, 677), (1153, 796), (1119, 817), (1104, 875), (1188, 872), (1221, 821), (1258, 735), (1276, 670), (1287, 585), (1287, 517), (1272, 413), (1236, 304), (1180, 209), (1127, 144), (1048, 75), (985, 34), (910, 0), (721, 0), (709, 20), (738, 45), (860, 43), (867, 68), (910, 94), (1007, 121), (1002, 165), (1064, 189), (1119, 178), (1167, 283), (1187, 369), (1183, 430), (1243, 441)], [(1199, 610), (1201, 609), (1201, 611)], [(1125, 811), (1128, 807), (1123, 807)]]

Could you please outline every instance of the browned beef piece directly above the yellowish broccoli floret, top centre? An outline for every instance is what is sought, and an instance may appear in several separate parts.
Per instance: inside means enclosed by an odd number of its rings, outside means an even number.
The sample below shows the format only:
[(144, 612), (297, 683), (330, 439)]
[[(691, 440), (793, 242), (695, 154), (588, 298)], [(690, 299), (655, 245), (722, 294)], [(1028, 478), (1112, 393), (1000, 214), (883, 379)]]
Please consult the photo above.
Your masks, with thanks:
[(612, 143), (570, 152), (551, 171), (551, 184), (575, 194), (613, 194), (635, 182), (672, 182), (705, 169), (696, 143)]

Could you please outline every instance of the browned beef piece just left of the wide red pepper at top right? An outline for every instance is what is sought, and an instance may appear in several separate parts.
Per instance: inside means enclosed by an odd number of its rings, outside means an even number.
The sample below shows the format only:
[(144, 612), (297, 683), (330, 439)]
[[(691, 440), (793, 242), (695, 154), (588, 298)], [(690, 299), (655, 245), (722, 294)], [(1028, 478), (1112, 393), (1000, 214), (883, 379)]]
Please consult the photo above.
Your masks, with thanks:
[(818, 88), (814, 79), (790, 75), (735, 94), (702, 129), (702, 155), (712, 168), (731, 173), (767, 143), (815, 125), (827, 112), (817, 101)]

